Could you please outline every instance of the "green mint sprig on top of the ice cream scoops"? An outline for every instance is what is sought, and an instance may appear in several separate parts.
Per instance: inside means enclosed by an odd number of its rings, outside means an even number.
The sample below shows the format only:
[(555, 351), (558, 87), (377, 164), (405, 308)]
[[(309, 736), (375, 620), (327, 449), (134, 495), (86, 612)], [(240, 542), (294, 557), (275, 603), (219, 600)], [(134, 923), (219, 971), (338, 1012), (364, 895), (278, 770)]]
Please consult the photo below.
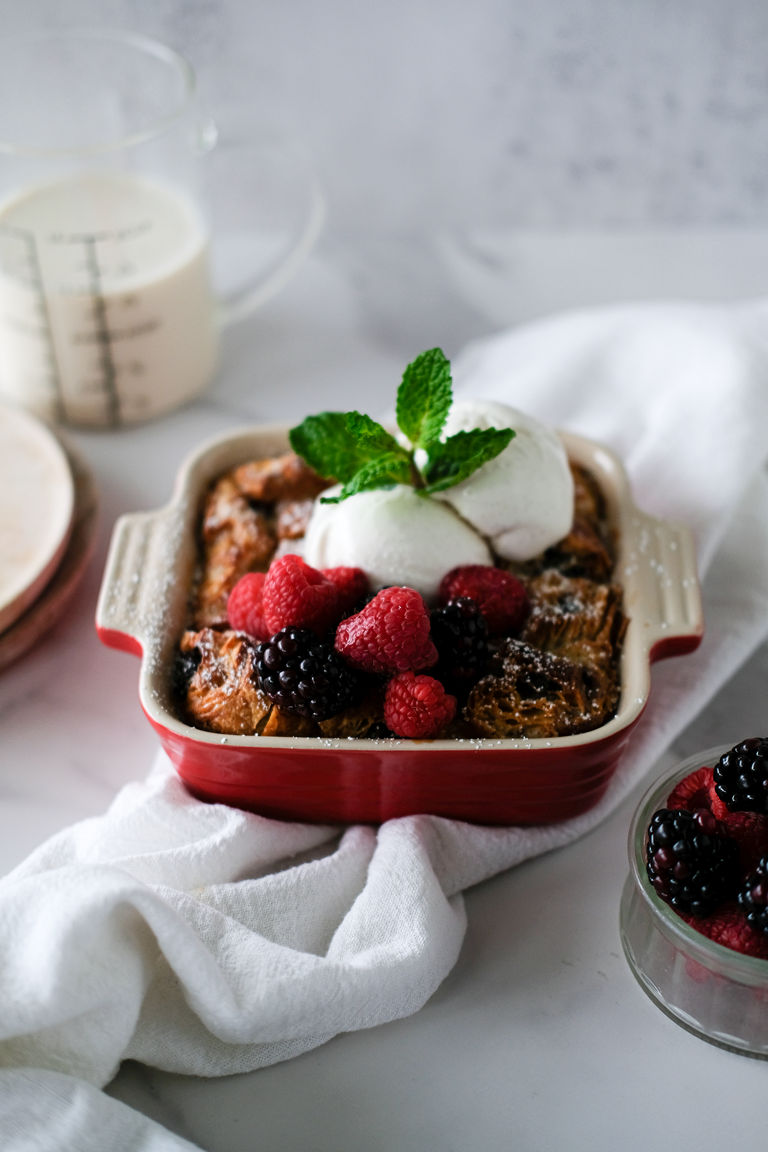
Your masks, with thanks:
[[(339, 495), (322, 497), (324, 503), (396, 484), (428, 497), (461, 484), (515, 435), (511, 429), (473, 429), (441, 440), (451, 401), (450, 364), (440, 348), (431, 348), (408, 365), (397, 389), (397, 426), (410, 449), (362, 412), (307, 416), (290, 430), (290, 445), (315, 472), (343, 485)], [(420, 468), (418, 449), (426, 454)]]

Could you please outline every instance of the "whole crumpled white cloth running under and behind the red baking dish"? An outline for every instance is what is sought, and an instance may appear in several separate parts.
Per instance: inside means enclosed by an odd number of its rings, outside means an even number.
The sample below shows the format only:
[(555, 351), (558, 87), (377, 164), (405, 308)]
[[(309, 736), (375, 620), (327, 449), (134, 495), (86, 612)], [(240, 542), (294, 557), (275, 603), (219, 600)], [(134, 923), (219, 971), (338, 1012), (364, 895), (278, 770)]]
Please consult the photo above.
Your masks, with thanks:
[(245, 1071), (416, 1011), (458, 955), (462, 890), (604, 819), (768, 635), (767, 373), (763, 303), (585, 312), (467, 351), (463, 394), (617, 448), (644, 507), (694, 524), (701, 647), (654, 669), (608, 793), (560, 825), (281, 824), (192, 799), (160, 756), (0, 881), (0, 1121), (22, 1124), (8, 1147), (90, 1147), (97, 1121), (114, 1123), (111, 1149), (190, 1146), (130, 1111), (122, 1124), (89, 1084), (127, 1056)]

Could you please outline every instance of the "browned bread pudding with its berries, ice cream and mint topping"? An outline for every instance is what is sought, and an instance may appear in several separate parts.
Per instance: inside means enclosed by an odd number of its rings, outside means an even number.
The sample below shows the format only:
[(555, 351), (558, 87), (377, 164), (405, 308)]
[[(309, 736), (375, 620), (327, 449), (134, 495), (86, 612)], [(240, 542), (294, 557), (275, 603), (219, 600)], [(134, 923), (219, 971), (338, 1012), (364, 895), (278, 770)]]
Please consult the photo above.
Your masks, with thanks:
[(180, 719), (327, 738), (548, 738), (604, 725), (626, 628), (594, 477), (507, 406), (454, 401), (439, 349), (398, 433), (359, 412), (291, 430), (200, 509)]

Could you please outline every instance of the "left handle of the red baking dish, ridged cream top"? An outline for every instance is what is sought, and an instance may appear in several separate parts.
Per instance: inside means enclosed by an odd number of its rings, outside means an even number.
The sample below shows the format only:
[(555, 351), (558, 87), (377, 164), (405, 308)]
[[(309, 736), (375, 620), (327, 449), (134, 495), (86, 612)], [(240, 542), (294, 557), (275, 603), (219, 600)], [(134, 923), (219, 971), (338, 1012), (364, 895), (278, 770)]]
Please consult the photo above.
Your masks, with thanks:
[(107, 647), (140, 657), (162, 626), (159, 585), (170, 569), (169, 520), (170, 509), (161, 508), (121, 516), (114, 526), (96, 608), (96, 630)]

